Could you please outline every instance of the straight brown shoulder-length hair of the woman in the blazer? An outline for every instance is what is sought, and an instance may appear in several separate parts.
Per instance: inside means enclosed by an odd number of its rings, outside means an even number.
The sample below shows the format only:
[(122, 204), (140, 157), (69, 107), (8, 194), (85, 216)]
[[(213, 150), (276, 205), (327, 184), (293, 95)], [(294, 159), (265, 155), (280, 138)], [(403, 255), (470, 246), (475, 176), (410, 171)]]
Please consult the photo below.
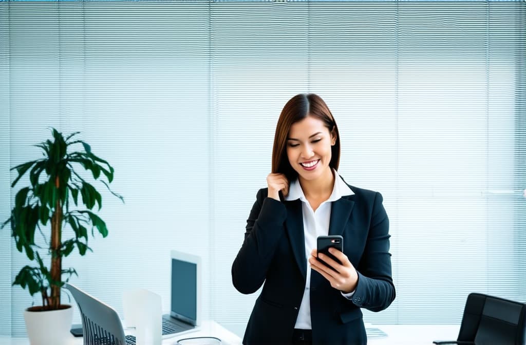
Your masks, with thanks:
[(329, 166), (338, 170), (340, 164), (340, 133), (329, 107), (316, 94), (299, 94), (289, 99), (281, 110), (276, 125), (274, 148), (272, 148), (272, 172), (284, 174), (289, 181), (298, 177), (298, 173), (290, 166), (287, 157), (287, 138), (290, 127), (307, 116), (323, 121), (329, 133), (336, 134), (336, 143), (331, 147), (332, 158)]

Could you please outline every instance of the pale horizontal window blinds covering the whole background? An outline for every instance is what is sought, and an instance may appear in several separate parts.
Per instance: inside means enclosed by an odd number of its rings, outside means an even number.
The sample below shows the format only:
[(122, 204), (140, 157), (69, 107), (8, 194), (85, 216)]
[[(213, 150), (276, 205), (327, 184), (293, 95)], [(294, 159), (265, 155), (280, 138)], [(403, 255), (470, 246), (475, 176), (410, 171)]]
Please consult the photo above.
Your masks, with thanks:
[[(2, 215), (28, 145), (82, 130), (126, 204), (105, 197), (110, 236), (67, 264), (119, 312), (130, 286), (167, 307), (166, 258), (188, 250), (208, 316), (244, 330), (257, 296), (230, 265), (279, 112), (303, 92), (336, 118), (340, 174), (390, 218), (397, 299), (366, 322), (459, 323), (473, 291), (526, 300), (523, 2), (2, 2), (0, 16)], [(0, 236), (0, 328), (24, 334), (31, 299), (8, 282), (25, 261)]]

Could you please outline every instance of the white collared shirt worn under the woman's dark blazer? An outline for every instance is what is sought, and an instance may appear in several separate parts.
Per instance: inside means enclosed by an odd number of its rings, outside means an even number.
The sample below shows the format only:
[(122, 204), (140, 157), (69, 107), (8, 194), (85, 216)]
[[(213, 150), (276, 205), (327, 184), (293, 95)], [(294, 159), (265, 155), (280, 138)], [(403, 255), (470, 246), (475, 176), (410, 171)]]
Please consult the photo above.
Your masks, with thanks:
[[(355, 194), (340, 177), (338, 171), (335, 169), (332, 169), (332, 171), (335, 176), (332, 194), (327, 200), (323, 201), (320, 206), (318, 206), (316, 211), (313, 211), (312, 207), (310, 207), (309, 201), (305, 197), (297, 179), (291, 182), (289, 194), (285, 197), (285, 200), (288, 201), (296, 199), (301, 200), (305, 235), (305, 257), (307, 264), (310, 252), (317, 246), (316, 239), (318, 236), (327, 236), (329, 234), (331, 202), (340, 199), (342, 196)], [(310, 321), (310, 272), (311, 269), (307, 269), (307, 281), (305, 283), (305, 290), (303, 299), (301, 300), (295, 328), (312, 329)], [(354, 291), (350, 293), (342, 293), (342, 295), (350, 299), (353, 293)]]

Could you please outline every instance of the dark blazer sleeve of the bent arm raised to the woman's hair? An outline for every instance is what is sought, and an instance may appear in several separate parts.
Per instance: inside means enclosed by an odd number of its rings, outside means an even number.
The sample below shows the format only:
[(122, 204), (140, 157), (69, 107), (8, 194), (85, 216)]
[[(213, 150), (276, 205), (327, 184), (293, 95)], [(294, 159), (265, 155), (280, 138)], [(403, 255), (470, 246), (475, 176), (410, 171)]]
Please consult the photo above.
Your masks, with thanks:
[(241, 293), (256, 292), (267, 275), (274, 252), (284, 234), (285, 205), (260, 189), (247, 219), (245, 240), (232, 263), (232, 283)]

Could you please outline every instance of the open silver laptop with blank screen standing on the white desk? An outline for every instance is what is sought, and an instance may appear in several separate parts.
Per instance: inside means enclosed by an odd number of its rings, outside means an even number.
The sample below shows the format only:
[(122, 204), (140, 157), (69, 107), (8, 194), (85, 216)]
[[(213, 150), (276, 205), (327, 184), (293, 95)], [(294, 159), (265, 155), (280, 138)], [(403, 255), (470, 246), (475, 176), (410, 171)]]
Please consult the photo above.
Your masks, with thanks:
[(199, 330), (201, 258), (172, 250), (170, 313), (163, 315), (163, 339)]

